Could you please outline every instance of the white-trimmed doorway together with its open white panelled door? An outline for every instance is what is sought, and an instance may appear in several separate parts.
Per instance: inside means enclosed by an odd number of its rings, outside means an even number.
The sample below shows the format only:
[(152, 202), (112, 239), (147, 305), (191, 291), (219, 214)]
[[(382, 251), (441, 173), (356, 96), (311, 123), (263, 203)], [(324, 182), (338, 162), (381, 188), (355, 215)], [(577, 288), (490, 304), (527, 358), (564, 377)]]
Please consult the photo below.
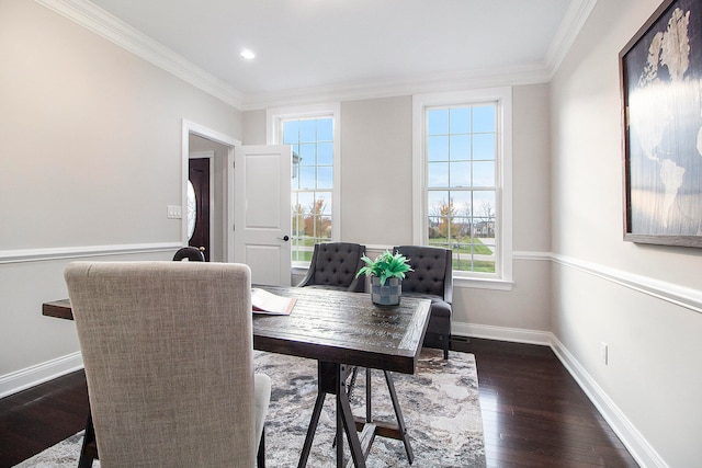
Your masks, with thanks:
[[(238, 159), (236, 195), (235, 147), (238, 155), (236, 157)], [(183, 121), (182, 149), (182, 206), (188, 204), (186, 191), (191, 155), (197, 151), (214, 151), (214, 156), (210, 158), (210, 260), (213, 262), (246, 263), (252, 270), (252, 279), (270, 282), (269, 284), (290, 285), (291, 147), (244, 147), (239, 140), (229, 136)], [(247, 155), (254, 157), (254, 159), (247, 161)], [(195, 155), (193, 157), (196, 158)], [(259, 180), (257, 176), (262, 179)], [(280, 196), (271, 198), (273, 192)], [(282, 196), (285, 194), (287, 198), (283, 199)], [(273, 203), (274, 201), (278, 203)], [(235, 202), (238, 204), (236, 215), (240, 221), (237, 232), (235, 232)], [(261, 202), (273, 204), (270, 209), (261, 208)], [(275, 214), (275, 216), (263, 216), (264, 214)], [(257, 226), (260, 228), (267, 221), (269, 222), (267, 226), (275, 226), (276, 229), (259, 229), (256, 239), (252, 242), (247, 242), (246, 233), (250, 230), (248, 228), (256, 229)], [(190, 239), (186, 219), (183, 219), (181, 226), (183, 244), (186, 244)], [(265, 252), (268, 256), (259, 255), (262, 252)], [(273, 253), (275, 254), (273, 255)], [(279, 266), (278, 271), (271, 273), (271, 266), (275, 265)]]

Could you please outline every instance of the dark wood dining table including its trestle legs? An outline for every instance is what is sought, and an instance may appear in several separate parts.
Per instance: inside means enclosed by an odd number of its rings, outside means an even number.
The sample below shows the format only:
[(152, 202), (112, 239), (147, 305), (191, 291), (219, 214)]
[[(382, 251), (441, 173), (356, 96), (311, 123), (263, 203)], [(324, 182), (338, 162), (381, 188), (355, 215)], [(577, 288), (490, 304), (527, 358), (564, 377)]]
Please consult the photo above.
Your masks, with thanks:
[[(349, 461), (355, 467), (365, 467), (375, 436), (401, 441), (411, 464), (414, 453), (393, 373), (415, 373), (429, 322), (430, 300), (403, 297), (399, 305), (388, 307), (373, 304), (371, 295), (364, 293), (316, 287), (254, 287), (294, 298), (295, 305), (290, 315), (253, 312), (253, 347), (317, 362), (317, 398), (298, 467), (307, 465), (327, 395), (336, 397), (336, 437), (332, 445), (336, 446), (337, 467), (346, 466), (344, 434), (351, 454)], [(45, 303), (42, 311), (48, 317), (72, 320), (68, 299)], [(365, 386), (365, 414), (353, 414), (349, 393), (358, 368), (384, 372), (396, 421), (373, 419), (370, 381)]]

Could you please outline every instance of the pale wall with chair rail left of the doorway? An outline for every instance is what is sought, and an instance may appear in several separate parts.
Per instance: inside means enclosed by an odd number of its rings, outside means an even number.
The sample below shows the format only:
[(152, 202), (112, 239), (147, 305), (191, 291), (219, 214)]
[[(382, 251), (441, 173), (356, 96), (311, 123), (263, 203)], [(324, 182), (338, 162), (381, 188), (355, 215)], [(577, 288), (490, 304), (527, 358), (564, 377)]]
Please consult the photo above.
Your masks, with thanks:
[(240, 138), (241, 113), (33, 1), (0, 2), (0, 57), (2, 395), (79, 349), (41, 315), (64, 256), (169, 260), (182, 119)]

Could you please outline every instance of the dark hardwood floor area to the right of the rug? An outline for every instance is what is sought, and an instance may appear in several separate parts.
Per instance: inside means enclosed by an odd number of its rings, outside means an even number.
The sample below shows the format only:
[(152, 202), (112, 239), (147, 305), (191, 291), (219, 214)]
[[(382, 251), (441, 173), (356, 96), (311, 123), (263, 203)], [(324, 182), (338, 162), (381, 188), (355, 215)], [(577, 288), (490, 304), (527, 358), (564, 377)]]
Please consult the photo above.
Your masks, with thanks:
[(471, 339), (488, 467), (636, 467), (548, 346)]

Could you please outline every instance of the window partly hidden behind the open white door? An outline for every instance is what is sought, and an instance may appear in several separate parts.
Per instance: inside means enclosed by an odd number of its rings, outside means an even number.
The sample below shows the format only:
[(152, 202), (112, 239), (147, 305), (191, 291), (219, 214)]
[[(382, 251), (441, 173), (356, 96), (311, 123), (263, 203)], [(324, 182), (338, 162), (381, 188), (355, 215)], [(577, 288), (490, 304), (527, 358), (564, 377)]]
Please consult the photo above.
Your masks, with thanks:
[(269, 142), (291, 145), (291, 241), (294, 266), (306, 266), (314, 244), (338, 239), (338, 106), (270, 110)]

